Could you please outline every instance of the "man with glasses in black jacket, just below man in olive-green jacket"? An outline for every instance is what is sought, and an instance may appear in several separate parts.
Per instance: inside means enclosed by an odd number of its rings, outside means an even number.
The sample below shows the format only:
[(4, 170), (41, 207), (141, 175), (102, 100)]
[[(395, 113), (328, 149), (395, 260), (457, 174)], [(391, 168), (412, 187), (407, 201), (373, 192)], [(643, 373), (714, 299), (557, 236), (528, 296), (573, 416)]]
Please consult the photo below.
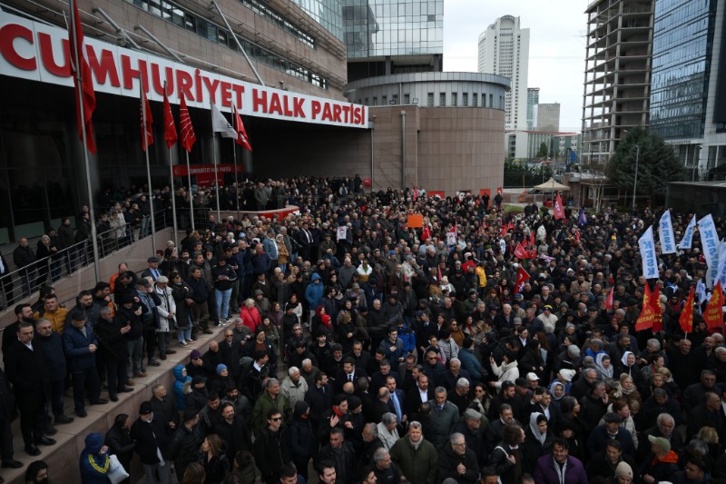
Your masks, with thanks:
[(267, 412), (267, 426), (258, 432), (252, 454), (262, 480), (266, 484), (279, 484), (280, 468), (292, 463), (289, 430), (282, 422), (280, 410), (270, 409)]

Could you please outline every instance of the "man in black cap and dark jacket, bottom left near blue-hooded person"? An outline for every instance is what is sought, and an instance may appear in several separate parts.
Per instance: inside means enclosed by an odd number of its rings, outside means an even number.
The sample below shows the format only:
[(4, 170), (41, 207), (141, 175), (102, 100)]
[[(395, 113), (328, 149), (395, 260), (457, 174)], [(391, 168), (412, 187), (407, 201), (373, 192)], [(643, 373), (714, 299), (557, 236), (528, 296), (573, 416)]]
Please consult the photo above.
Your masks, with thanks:
[(166, 450), (169, 447), (169, 435), (166, 422), (155, 419), (152, 404), (144, 401), (139, 410), (139, 418), (132, 423), (131, 437), (136, 443), (133, 449), (142, 460), (143, 473), (146, 479), (156, 484), (153, 476), (158, 473), (162, 484), (171, 484), (172, 473)]

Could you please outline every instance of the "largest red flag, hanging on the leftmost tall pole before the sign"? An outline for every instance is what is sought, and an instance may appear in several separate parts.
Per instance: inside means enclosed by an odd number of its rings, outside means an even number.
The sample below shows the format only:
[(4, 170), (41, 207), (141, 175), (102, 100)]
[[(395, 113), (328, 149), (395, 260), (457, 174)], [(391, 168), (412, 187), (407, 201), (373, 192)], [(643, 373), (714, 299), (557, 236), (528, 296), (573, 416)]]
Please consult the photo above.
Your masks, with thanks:
[[(78, 121), (78, 136), (83, 143), (83, 126), (85, 126), (85, 147), (90, 153), (96, 153), (96, 142), (93, 138), (93, 111), (96, 109), (96, 94), (93, 91), (93, 77), (88, 64), (81, 15), (78, 14), (76, 0), (71, 0), (71, 23), (68, 25), (71, 63), (74, 70), (75, 111)], [(81, 84), (81, 98), (78, 96), (78, 84)], [(83, 113), (83, 116), (81, 115)]]

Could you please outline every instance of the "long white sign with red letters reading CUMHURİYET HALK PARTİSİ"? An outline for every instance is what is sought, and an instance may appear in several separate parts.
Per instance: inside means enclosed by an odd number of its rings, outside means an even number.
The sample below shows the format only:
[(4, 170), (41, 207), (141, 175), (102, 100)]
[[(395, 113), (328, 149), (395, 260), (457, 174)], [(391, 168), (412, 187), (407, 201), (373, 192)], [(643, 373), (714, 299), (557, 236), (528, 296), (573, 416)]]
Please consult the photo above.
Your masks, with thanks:
[[(163, 57), (86, 37), (86, 57), (98, 93), (139, 98), (140, 82), (150, 101), (163, 101), (164, 83), (172, 104), (181, 95), (191, 107), (299, 123), (368, 128), (368, 108), (240, 81)], [(73, 87), (68, 33), (64, 29), (0, 12), (0, 73)], [(69, 95), (70, 95), (69, 91)]]

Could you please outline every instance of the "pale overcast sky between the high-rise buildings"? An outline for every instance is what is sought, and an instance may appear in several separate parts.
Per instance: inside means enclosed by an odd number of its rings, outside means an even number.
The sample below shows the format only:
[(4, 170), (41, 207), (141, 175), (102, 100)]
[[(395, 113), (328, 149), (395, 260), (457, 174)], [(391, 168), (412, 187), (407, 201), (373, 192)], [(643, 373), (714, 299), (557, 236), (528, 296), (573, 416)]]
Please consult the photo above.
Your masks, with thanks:
[(476, 72), (479, 34), (497, 17), (520, 17), (529, 28), (529, 79), (540, 103), (560, 103), (560, 129), (582, 128), (586, 0), (446, 0), (444, 70)]

